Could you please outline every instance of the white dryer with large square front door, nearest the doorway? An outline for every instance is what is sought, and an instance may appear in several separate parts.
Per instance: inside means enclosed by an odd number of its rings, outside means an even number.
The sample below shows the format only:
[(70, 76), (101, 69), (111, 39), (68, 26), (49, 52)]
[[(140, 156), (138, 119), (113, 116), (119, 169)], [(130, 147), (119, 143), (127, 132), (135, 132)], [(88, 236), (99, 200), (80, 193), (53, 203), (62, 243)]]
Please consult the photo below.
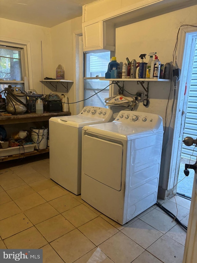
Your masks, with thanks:
[(157, 201), (162, 117), (121, 111), (82, 130), (81, 198), (125, 224)]

